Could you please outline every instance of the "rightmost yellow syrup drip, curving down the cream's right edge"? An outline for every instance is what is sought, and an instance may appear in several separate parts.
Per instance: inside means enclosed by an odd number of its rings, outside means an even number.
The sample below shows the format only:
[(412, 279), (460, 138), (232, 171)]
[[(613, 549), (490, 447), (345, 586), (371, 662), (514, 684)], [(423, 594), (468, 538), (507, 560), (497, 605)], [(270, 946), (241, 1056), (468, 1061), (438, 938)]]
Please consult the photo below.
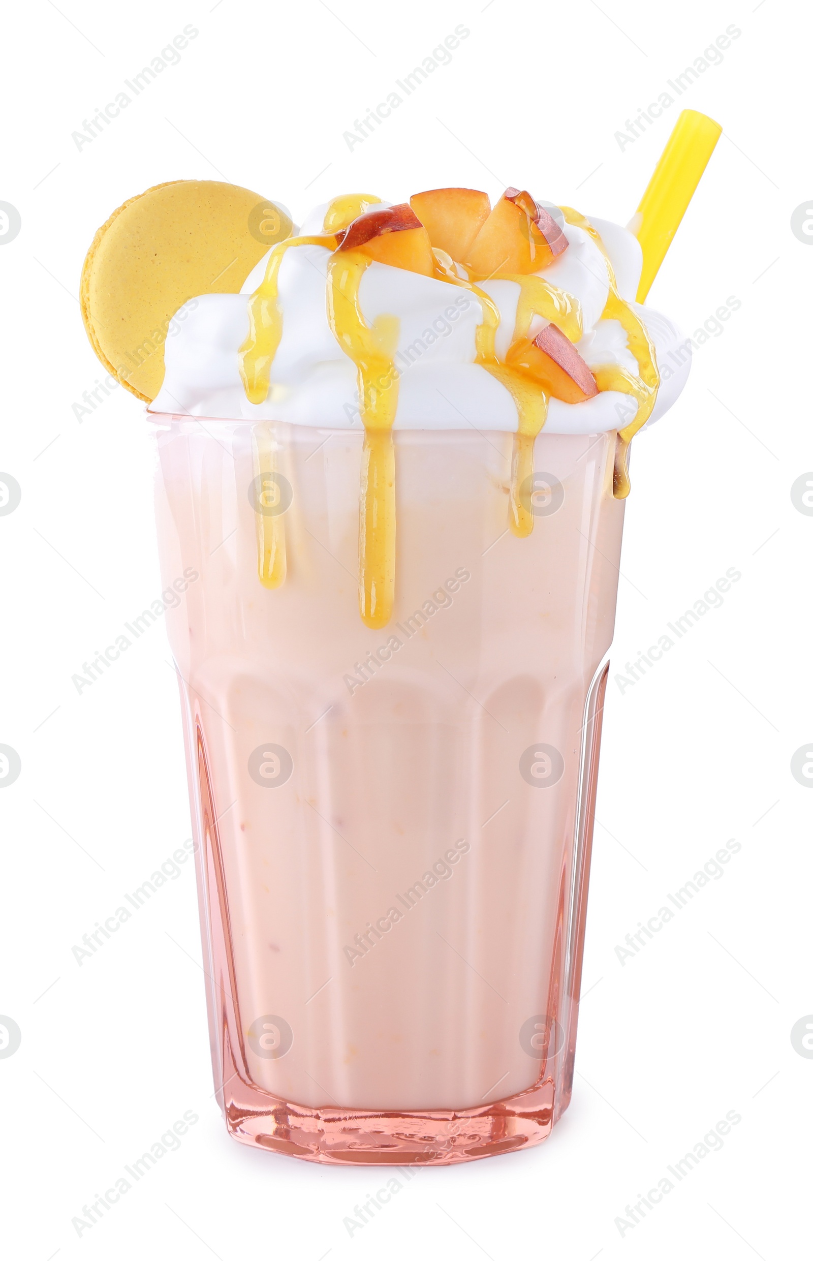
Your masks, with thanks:
[(570, 206), (562, 206), (561, 209), (567, 223), (572, 223), (575, 227), (584, 228), (585, 232), (589, 232), (604, 255), (608, 277), (610, 281), (610, 293), (608, 294), (601, 319), (616, 319), (619, 322), (626, 333), (629, 348), (633, 353), (635, 363), (638, 364), (639, 375), (637, 377), (631, 376), (626, 368), (620, 367), (618, 363), (610, 363), (596, 368), (592, 373), (596, 378), (599, 390), (618, 390), (620, 393), (631, 395), (633, 398), (638, 401), (638, 411), (635, 412), (634, 419), (623, 429), (619, 427), (615, 446), (613, 494), (616, 499), (625, 499), (630, 491), (628, 465), (629, 444), (638, 430), (645, 425), (652, 416), (652, 409), (654, 407), (655, 398), (658, 397), (660, 373), (658, 372), (655, 348), (644, 323), (638, 318), (629, 303), (624, 301), (619, 294), (618, 285), (615, 282), (615, 272), (613, 271), (613, 264), (608, 259), (604, 242), (592, 223), (590, 223), (584, 214), (580, 214), (579, 211), (571, 209)]

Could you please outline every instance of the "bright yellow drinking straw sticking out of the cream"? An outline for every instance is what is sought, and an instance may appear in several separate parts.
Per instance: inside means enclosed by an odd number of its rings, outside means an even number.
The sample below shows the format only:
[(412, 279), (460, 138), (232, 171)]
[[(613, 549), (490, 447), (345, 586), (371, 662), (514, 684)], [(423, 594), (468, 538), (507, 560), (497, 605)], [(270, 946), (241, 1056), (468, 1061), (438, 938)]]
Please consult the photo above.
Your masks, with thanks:
[(683, 110), (640, 199), (635, 235), (644, 252), (638, 301), (649, 293), (672, 237), (700, 184), (722, 127), (696, 110)]

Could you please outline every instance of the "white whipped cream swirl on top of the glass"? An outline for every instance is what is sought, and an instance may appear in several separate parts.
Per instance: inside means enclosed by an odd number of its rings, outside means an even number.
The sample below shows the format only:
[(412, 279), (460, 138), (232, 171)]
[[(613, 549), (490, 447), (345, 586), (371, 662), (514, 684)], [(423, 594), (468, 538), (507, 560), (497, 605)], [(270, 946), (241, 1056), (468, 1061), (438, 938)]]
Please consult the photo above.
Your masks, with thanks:
[[(384, 206), (389, 203), (383, 203)], [(321, 231), (326, 207), (316, 207), (303, 233)], [(655, 347), (662, 382), (652, 416), (654, 424), (686, 385), (689, 357), (671, 352), (682, 343), (666, 317), (634, 301), (642, 251), (626, 228), (591, 219), (613, 264), (621, 298), (645, 324)], [(579, 299), (584, 335), (576, 349), (589, 367), (619, 364), (637, 372), (626, 333), (618, 320), (601, 319), (609, 282), (605, 260), (587, 232), (565, 223), (565, 250), (539, 272)], [(267, 255), (247, 277), (239, 294), (203, 294), (176, 313), (176, 335), (165, 344), (165, 376), (150, 411), (224, 420), (279, 420), (319, 429), (360, 429), (357, 369), (330, 330), (325, 286), (330, 251), (295, 246), (285, 252), (279, 272), (282, 337), (271, 366), (271, 385), (262, 404), (246, 397), (239, 375), (239, 348), (248, 335), (248, 295), (261, 284)], [(479, 282), (499, 310), (497, 353), (504, 357), (514, 329), (519, 285), (510, 280)], [(508, 390), (475, 363), (475, 333), (483, 320), (476, 296), (416, 272), (372, 262), (360, 281), (359, 305), (368, 324), (378, 315), (400, 320), (395, 356), (400, 373), (396, 429), (490, 429), (514, 431), (517, 409)], [(531, 335), (547, 320), (534, 318)], [(683, 363), (682, 359), (686, 359)], [(638, 404), (605, 391), (579, 404), (551, 398), (545, 429), (553, 434), (599, 434), (634, 420)], [(645, 426), (644, 426), (645, 427)]]

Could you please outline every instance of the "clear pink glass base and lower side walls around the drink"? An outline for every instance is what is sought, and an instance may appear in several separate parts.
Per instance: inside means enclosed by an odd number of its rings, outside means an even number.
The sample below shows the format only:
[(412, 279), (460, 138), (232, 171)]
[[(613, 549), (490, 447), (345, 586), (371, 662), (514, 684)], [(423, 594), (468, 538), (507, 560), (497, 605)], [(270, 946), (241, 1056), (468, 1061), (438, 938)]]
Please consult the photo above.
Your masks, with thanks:
[[(539, 1066), (536, 1083), (503, 1100), (470, 1108), (371, 1110), (313, 1107), (290, 1102), (257, 1086), (250, 1076), (231, 946), (217, 812), (202, 731), (202, 715), (187, 726), (193, 810), (198, 806), (195, 865), (200, 892), (204, 957), (208, 967), (212, 1061), (217, 1098), (238, 1142), (318, 1164), (451, 1165), (532, 1148), (547, 1139), (567, 1108), (572, 1090), (579, 990), (584, 950), (592, 818), (608, 666), (590, 687), (582, 726), (582, 784), (576, 831), (579, 861), (568, 918), (576, 944), (567, 990), (574, 1001), (558, 1050)], [(184, 696), (182, 690), (182, 697)], [(189, 701), (184, 697), (185, 704)], [(194, 702), (193, 702), (194, 705)], [(197, 765), (195, 765), (197, 763)], [(197, 781), (197, 783), (195, 783)], [(194, 789), (198, 789), (197, 792)], [(208, 931), (207, 931), (208, 929)]]

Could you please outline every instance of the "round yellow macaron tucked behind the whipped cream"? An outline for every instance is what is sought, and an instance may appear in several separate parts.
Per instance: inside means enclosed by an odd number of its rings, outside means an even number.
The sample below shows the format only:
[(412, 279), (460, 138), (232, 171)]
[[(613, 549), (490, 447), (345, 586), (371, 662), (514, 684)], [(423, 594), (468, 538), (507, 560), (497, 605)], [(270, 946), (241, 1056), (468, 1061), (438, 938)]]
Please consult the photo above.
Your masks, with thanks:
[[(82, 269), (84, 328), (107, 371), (144, 402), (164, 380), (175, 311), (199, 294), (237, 294), (268, 247), (290, 236), (267, 224), (267, 198), (217, 180), (156, 184), (102, 224)], [(256, 233), (256, 235), (255, 235)]]

